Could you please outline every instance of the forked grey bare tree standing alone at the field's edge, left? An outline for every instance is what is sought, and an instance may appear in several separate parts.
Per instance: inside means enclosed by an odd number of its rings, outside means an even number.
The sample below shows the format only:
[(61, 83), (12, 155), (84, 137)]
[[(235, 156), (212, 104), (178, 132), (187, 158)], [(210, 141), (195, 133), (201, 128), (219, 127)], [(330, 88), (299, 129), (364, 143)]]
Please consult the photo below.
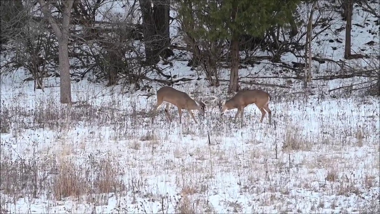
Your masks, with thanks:
[(60, 23), (57, 18), (52, 16), (52, 3), (40, 0), (41, 10), (47, 18), (54, 34), (58, 39), (58, 54), (60, 68), (60, 101), (61, 103), (71, 103), (71, 79), (70, 62), (68, 53), (68, 38), (70, 27), (71, 8), (74, 0), (62, 0), (63, 18)]

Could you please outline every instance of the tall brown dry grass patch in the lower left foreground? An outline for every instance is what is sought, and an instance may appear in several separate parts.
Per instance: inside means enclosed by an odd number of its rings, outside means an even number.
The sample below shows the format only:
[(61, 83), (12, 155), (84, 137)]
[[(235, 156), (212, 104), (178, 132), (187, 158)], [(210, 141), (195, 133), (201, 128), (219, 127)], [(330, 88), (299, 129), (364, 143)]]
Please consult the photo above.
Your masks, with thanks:
[[(84, 166), (78, 164), (77, 158), (10, 160), (2, 156), (0, 187), (3, 194), (10, 196), (8, 200), (45, 195), (58, 201), (71, 197), (71, 200), (79, 202), (102, 203), (99, 201), (101, 193), (123, 193), (127, 190), (124, 173), (114, 158), (89, 158), (87, 166)], [(2, 202), (4, 205), (10, 201)]]

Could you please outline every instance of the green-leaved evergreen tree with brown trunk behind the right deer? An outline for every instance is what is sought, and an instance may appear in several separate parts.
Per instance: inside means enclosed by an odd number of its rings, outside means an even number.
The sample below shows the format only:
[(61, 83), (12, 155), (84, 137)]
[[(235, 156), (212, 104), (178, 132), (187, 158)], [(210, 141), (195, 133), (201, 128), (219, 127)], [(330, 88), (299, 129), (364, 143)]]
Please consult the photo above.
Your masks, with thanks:
[[(191, 22), (192, 38), (230, 39), (231, 75), (229, 93), (238, 91), (239, 37), (262, 37), (275, 26), (288, 26), (299, 0), (181, 0), (179, 14)], [(188, 5), (192, 5), (190, 8)]]

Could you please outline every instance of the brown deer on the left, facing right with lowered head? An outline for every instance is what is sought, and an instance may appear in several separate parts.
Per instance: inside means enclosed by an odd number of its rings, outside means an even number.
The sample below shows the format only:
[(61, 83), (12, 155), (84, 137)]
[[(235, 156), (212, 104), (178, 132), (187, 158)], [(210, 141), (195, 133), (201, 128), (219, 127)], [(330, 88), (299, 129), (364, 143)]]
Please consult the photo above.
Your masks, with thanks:
[(206, 104), (204, 104), (202, 99), (197, 102), (188, 96), (187, 93), (178, 91), (177, 89), (169, 86), (164, 86), (158, 89), (156, 111), (164, 103), (166, 104), (165, 113), (170, 122), (172, 119), (169, 115), (169, 107), (170, 105), (177, 106), (180, 124), (182, 123), (182, 109), (186, 109), (190, 113), (196, 124), (198, 124), (198, 122), (195, 120), (192, 110), (198, 110), (202, 116), (204, 116), (204, 112), (206, 111)]

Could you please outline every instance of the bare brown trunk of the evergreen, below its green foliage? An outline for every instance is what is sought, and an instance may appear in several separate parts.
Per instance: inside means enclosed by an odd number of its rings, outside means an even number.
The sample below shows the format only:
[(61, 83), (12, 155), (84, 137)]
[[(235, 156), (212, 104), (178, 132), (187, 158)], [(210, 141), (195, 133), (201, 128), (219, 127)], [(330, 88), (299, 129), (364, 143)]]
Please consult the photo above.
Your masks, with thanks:
[(239, 91), (239, 34), (234, 33), (231, 40), (231, 72), (230, 72), (230, 86), (228, 86), (228, 93)]

